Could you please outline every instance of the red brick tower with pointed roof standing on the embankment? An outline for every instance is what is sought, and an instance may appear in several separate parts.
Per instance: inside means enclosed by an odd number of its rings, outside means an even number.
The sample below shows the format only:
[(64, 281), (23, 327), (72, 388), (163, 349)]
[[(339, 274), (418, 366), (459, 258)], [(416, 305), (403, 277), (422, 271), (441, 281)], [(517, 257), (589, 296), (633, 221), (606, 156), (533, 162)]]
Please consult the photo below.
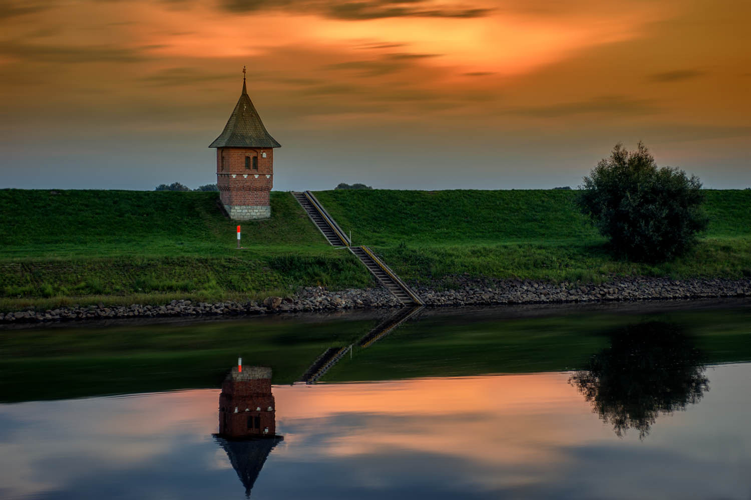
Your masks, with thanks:
[(273, 148), (281, 145), (267, 132), (245, 85), (225, 125), (209, 146), (216, 148), (216, 185), (222, 205), (232, 219), (271, 217)]

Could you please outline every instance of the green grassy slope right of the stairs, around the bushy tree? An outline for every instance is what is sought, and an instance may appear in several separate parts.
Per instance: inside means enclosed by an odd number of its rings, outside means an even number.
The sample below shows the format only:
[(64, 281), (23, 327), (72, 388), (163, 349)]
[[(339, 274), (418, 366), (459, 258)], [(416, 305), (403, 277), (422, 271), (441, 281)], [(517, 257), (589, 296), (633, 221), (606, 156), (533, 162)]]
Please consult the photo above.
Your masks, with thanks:
[(613, 259), (569, 190), (335, 190), (316, 193), (354, 244), (406, 280), (520, 278), (600, 283), (612, 275), (751, 276), (751, 191), (705, 190), (710, 226), (685, 256), (658, 265)]

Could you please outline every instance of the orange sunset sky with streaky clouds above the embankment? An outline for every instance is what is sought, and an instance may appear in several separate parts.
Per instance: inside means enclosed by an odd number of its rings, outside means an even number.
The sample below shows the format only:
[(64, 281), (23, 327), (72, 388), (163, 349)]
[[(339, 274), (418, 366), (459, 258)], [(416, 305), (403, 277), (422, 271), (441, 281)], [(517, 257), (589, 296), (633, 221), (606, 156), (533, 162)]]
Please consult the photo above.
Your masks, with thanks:
[(745, 1), (7, 0), (0, 187), (213, 182), (249, 67), (275, 188), (575, 186), (615, 142), (751, 185)]

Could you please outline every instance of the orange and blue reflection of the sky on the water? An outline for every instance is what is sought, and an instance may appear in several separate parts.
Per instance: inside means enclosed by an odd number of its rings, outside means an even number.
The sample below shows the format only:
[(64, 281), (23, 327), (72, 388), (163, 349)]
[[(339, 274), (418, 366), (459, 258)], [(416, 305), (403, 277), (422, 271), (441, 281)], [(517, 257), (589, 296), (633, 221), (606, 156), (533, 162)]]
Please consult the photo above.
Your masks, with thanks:
[[(252, 498), (724, 498), (751, 493), (751, 364), (646, 439), (615, 436), (569, 373), (279, 386)], [(0, 497), (243, 498), (219, 391), (0, 406)]]

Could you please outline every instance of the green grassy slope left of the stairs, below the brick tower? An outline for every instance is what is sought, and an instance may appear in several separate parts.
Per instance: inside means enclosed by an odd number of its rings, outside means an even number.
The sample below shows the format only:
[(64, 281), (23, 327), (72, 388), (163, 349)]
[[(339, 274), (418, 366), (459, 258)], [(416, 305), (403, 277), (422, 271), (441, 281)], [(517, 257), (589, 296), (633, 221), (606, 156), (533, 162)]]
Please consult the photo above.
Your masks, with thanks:
[(368, 286), (288, 193), (272, 217), (236, 225), (217, 193), (0, 190), (0, 310), (164, 304), (287, 295), (298, 286)]

